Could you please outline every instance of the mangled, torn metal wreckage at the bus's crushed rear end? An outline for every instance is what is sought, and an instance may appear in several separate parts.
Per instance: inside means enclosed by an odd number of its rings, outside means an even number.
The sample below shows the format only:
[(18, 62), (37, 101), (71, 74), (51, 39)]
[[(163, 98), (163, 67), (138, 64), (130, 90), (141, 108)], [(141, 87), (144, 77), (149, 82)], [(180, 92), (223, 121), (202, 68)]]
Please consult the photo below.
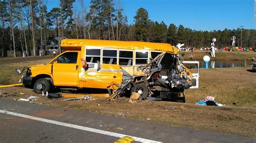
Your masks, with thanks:
[[(166, 53), (161, 53), (156, 58), (150, 58), (149, 63), (139, 66), (137, 71), (141, 71), (139, 75), (130, 75), (123, 70), (123, 81), (120, 85), (111, 83), (107, 89), (110, 98), (118, 98), (120, 96), (130, 96), (132, 92), (139, 94), (139, 99), (147, 97), (160, 97), (177, 99), (178, 93), (183, 93), (185, 89), (189, 89), (196, 81), (193, 75), (179, 59), (179, 55), (173, 55), (174, 59), (167, 71), (167, 78), (161, 76), (161, 61)], [(122, 67), (121, 67), (122, 68)], [(117, 90), (111, 87), (117, 86)], [(184, 94), (183, 94), (184, 95)]]

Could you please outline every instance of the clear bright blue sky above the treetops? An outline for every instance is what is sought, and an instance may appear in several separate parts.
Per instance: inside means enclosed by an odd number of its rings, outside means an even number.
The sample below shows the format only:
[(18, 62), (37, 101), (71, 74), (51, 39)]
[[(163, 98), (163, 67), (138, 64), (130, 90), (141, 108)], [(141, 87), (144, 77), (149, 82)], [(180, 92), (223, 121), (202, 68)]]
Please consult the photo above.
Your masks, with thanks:
[[(113, 0), (115, 3), (117, 0)], [(255, 29), (254, 0), (119, 0), (128, 23), (132, 24), (133, 17), (139, 8), (149, 12), (153, 21), (164, 21), (166, 25), (174, 23), (193, 30), (224, 30), (244, 26)], [(75, 2), (74, 5), (78, 4)], [(85, 0), (88, 6), (90, 0)], [(59, 6), (59, 1), (48, 0), (48, 10)]]

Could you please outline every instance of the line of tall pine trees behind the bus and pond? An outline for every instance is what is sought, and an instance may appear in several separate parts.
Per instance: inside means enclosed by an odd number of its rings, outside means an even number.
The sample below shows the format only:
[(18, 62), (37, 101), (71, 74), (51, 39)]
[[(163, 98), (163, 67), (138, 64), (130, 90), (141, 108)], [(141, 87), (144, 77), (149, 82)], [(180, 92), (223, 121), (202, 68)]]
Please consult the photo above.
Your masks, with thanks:
[[(184, 43), (188, 47), (210, 47), (216, 38), (217, 47), (231, 45), (231, 37), (241, 46), (241, 29), (196, 31), (183, 25), (153, 22), (144, 8), (139, 8), (134, 24), (128, 24), (119, 0), (60, 0), (48, 10), (43, 0), (2, 0), (0, 10), (0, 49), (36, 55), (38, 49), (48, 50), (49, 38), (103, 39), (123, 41)], [(242, 47), (255, 47), (256, 30), (242, 29)]]

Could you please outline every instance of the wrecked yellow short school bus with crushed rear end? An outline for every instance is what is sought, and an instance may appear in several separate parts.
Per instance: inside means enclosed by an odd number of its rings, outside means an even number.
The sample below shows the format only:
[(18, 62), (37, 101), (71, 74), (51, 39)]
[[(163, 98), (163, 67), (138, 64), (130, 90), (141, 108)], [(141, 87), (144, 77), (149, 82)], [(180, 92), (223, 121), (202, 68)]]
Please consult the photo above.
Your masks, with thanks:
[[(198, 88), (199, 62), (181, 62), (170, 44), (64, 39), (60, 46), (65, 52), (45, 65), (24, 68), (25, 87), (38, 94), (53, 88), (108, 89), (111, 98), (137, 92), (140, 99), (172, 99)], [(197, 72), (183, 63), (196, 64)]]

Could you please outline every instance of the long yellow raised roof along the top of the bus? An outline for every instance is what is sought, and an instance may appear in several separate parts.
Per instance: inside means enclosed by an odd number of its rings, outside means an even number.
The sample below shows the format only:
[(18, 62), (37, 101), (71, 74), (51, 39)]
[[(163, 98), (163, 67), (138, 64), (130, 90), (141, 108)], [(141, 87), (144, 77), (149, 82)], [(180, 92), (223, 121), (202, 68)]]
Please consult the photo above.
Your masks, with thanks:
[(64, 39), (60, 46), (64, 50), (80, 51), (82, 46), (97, 46), (106, 48), (163, 51), (178, 54), (178, 48), (165, 43), (139, 42), (139, 41), (114, 41), (114, 40), (87, 40)]

